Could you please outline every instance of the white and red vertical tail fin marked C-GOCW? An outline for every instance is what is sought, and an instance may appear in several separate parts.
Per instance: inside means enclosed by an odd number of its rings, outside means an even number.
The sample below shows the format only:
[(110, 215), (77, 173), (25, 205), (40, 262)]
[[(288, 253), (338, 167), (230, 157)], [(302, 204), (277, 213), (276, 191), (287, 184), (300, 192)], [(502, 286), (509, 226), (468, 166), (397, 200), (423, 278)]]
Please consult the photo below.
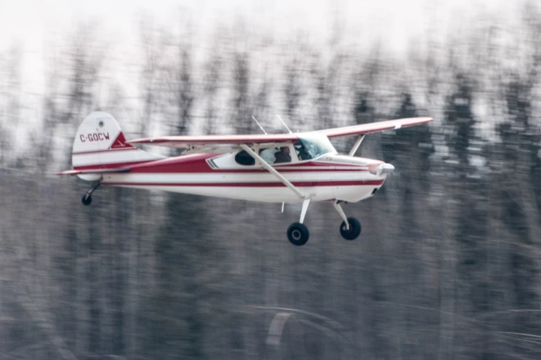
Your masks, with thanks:
[(126, 143), (115, 118), (106, 112), (92, 112), (77, 130), (73, 141), (74, 170), (111, 169), (161, 159)]

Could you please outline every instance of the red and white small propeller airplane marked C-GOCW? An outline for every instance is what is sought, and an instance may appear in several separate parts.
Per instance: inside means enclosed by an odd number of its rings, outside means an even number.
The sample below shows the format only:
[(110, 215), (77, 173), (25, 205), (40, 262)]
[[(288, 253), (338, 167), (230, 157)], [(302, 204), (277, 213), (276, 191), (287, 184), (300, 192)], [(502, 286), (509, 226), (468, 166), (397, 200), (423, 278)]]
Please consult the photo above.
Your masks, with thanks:
[[(56, 174), (96, 181), (82, 197), (86, 206), (100, 185), (282, 203), (282, 212), (284, 203), (302, 203), (299, 221), (287, 228), (287, 238), (296, 246), (304, 245), (310, 236), (303, 224), (310, 202), (330, 202), (343, 219), (340, 234), (353, 240), (361, 234), (361, 223), (346, 217), (340, 204), (372, 197), (395, 169), (390, 163), (354, 157), (365, 135), (432, 120), (415, 117), (297, 133), (284, 123), (289, 133), (267, 134), (261, 127), (265, 134), (126, 141), (110, 114), (92, 112), (75, 135), (73, 170)], [(329, 139), (350, 135), (358, 138), (349, 154), (338, 154)], [(133, 144), (183, 148), (184, 152), (160, 157)]]

